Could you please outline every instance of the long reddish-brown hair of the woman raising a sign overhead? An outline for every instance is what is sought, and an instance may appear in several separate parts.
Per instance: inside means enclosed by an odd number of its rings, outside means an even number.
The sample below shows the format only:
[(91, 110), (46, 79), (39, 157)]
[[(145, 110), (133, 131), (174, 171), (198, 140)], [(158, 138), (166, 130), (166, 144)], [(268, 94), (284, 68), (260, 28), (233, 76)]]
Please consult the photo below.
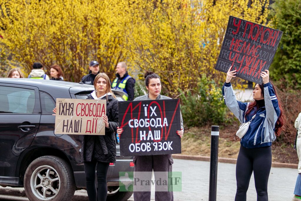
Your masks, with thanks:
[[(281, 102), (280, 99), (278, 99), (278, 95), (277, 95), (277, 91), (275, 89), (275, 86), (272, 83), (272, 81), (270, 81), (270, 83), (272, 84), (273, 90), (275, 92), (275, 96), (277, 97), (278, 105), (279, 105), (279, 110), (280, 110), (280, 115), (279, 115), (279, 118), (278, 118), (278, 120), (276, 122), (276, 125), (275, 125), (275, 134), (276, 134), (276, 136), (280, 136), (281, 130), (283, 129), (283, 126), (284, 126), (285, 121), (286, 121), (286, 116), (284, 115), (284, 111), (282, 109), (282, 102)], [(253, 90), (255, 89), (255, 86), (254, 86)], [(264, 100), (264, 87), (263, 87), (263, 83), (259, 84), (259, 87), (261, 89), (261, 95), (262, 95), (263, 100)], [(250, 112), (252, 111), (253, 108), (257, 108), (258, 109), (258, 102), (257, 102), (257, 100), (254, 100), (253, 102), (250, 102), (248, 110), (245, 113), (245, 117), (250, 114)]]

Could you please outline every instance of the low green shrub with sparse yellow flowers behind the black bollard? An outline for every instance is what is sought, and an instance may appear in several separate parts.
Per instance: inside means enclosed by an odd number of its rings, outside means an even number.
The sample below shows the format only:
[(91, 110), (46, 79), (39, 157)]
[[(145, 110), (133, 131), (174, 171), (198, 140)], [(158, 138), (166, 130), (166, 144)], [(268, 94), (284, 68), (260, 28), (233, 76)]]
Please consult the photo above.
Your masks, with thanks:
[(181, 93), (181, 112), (186, 127), (225, 123), (227, 108), (220, 86), (203, 75), (198, 78), (197, 89)]

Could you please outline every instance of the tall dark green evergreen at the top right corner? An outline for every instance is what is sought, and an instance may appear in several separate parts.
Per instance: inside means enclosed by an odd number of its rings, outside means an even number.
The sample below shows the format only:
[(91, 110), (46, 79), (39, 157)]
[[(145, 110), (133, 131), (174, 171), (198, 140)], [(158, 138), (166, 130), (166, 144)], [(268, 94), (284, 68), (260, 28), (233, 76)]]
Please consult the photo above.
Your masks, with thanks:
[(278, 0), (271, 7), (273, 28), (283, 31), (271, 78), (284, 87), (301, 89), (301, 0)]

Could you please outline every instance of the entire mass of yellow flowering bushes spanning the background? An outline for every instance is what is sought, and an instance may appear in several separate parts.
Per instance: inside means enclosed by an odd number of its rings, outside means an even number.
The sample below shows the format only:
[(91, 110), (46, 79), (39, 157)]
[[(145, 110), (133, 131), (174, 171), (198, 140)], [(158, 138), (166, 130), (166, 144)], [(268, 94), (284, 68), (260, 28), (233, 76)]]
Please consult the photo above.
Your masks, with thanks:
[(265, 24), (267, 8), (267, 0), (2, 0), (0, 45), (25, 73), (35, 61), (46, 71), (58, 64), (68, 81), (91, 60), (113, 79), (127, 61), (132, 75), (158, 73), (175, 97), (202, 75), (224, 80), (214, 67), (229, 15)]

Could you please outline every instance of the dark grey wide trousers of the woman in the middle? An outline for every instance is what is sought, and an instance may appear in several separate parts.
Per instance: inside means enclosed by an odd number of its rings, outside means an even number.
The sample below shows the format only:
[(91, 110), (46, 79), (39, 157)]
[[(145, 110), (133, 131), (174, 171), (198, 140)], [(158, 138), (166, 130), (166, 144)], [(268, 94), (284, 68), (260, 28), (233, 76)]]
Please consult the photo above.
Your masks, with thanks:
[[(171, 172), (173, 159), (171, 154), (167, 155), (147, 155), (135, 156), (133, 159), (134, 177), (135, 172), (152, 172), (154, 170), (155, 180), (156, 172)], [(167, 173), (168, 174), (168, 173)], [(171, 175), (171, 174), (168, 174)], [(151, 174), (149, 175), (151, 180)], [(157, 183), (156, 183), (157, 188)], [(135, 201), (149, 201), (151, 200), (151, 191), (136, 192), (134, 185), (134, 200)], [(156, 201), (173, 201), (173, 192), (171, 191), (155, 191)]]

